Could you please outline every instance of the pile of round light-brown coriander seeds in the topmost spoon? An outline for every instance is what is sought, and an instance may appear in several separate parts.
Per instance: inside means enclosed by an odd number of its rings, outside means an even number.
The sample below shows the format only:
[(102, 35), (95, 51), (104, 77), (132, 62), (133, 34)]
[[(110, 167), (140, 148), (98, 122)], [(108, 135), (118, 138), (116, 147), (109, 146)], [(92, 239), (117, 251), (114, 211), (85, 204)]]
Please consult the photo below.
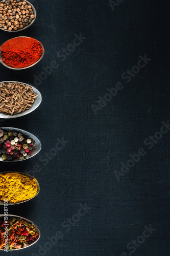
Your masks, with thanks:
[(26, 1), (7, 0), (0, 4), (0, 28), (9, 31), (23, 29), (35, 19), (31, 5)]

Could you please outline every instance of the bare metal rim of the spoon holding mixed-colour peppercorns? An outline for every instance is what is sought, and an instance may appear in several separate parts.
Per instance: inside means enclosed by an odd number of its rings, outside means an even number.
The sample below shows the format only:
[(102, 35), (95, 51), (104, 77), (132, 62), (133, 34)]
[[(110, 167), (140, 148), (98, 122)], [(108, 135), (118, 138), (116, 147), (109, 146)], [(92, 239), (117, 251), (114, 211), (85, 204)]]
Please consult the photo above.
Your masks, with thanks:
[(29, 155), (29, 157), (27, 157), (25, 159), (22, 159), (22, 160), (20, 160), (18, 158), (14, 158), (12, 161), (8, 161), (8, 160), (3, 161), (2, 157), (0, 157), (0, 161), (1, 162), (19, 162), (19, 161), (24, 161), (24, 160), (30, 159), (31, 157), (37, 155), (40, 152), (40, 150), (41, 150), (41, 142), (33, 134), (31, 134), (31, 133), (29, 133), (27, 131), (21, 130), (21, 129), (13, 128), (13, 127), (0, 127), (0, 129), (5, 130), (5, 131), (12, 131), (12, 132), (16, 131), (18, 133), (21, 133), (24, 137), (29, 137), (33, 141), (35, 141), (35, 146), (34, 146), (33, 150), (30, 151), (32, 154)]

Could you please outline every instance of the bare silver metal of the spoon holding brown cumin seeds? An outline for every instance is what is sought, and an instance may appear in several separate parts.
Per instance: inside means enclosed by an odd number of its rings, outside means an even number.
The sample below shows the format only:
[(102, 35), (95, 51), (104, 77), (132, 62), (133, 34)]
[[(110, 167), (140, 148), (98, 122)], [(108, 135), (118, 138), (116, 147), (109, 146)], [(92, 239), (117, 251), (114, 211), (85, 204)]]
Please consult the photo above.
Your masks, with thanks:
[[(2, 81), (2, 82), (8, 83), (8, 82), (16, 82), (16, 81)], [(0, 82), (0, 84), (2, 82)], [(22, 83), (22, 84), (25, 84), (26, 86), (30, 86), (30, 84), (24, 83), (24, 82), (17, 82), (17, 83)], [(14, 115), (8, 115), (8, 114), (0, 113), (0, 118), (10, 119), (10, 118), (16, 118), (16, 117), (25, 116), (25, 115), (28, 115), (29, 113), (33, 112), (35, 109), (38, 108), (38, 106), (40, 105), (40, 103), (42, 101), (41, 93), (36, 88), (34, 88), (33, 86), (30, 86), (30, 87), (33, 89), (34, 93), (38, 95), (35, 98), (33, 106), (31, 106), (31, 108), (29, 110), (25, 110), (24, 112), (21, 112), (21, 113), (18, 113), (18, 114), (14, 114)]]

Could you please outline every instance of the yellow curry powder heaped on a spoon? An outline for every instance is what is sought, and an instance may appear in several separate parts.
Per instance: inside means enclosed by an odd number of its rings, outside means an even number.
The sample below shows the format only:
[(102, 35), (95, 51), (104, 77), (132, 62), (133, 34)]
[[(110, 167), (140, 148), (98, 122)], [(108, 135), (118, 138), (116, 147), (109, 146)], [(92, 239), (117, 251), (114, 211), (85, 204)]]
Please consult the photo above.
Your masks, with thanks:
[(27, 174), (0, 173), (0, 200), (8, 199), (9, 203), (18, 203), (34, 197), (38, 192), (35, 178)]

